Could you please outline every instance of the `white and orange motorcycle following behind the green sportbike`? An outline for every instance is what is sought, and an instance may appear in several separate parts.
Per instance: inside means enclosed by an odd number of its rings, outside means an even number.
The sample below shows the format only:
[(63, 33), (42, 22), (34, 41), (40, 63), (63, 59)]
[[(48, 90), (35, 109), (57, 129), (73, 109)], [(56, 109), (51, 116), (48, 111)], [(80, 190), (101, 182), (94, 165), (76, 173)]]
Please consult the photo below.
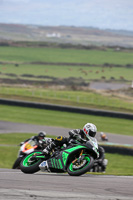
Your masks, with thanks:
[(22, 159), (29, 153), (34, 152), (38, 148), (38, 144), (30, 139), (27, 142), (24, 142), (23, 144), (20, 144), (20, 150), (18, 152), (18, 157), (16, 161), (14, 162), (12, 169), (19, 169), (20, 162)]

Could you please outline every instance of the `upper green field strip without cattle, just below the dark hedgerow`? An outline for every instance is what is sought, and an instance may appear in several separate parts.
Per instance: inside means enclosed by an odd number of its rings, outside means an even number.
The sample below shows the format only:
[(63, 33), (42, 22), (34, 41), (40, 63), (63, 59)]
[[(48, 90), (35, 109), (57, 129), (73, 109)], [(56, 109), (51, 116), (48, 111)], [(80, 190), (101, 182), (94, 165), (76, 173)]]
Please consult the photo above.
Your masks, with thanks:
[(133, 53), (102, 50), (77, 50), (63, 48), (32, 48), (32, 47), (0, 47), (0, 61), (12, 62), (65, 62), (89, 63), (103, 65), (104, 63), (127, 65), (133, 63)]

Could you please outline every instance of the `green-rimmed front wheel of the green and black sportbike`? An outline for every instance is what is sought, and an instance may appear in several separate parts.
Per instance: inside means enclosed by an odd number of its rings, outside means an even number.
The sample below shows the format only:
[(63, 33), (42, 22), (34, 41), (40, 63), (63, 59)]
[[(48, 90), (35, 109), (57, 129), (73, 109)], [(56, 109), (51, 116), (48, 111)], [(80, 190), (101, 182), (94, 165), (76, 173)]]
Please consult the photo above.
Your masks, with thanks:
[(88, 172), (94, 164), (94, 158), (85, 156), (80, 162), (71, 162), (67, 167), (70, 176), (80, 176)]

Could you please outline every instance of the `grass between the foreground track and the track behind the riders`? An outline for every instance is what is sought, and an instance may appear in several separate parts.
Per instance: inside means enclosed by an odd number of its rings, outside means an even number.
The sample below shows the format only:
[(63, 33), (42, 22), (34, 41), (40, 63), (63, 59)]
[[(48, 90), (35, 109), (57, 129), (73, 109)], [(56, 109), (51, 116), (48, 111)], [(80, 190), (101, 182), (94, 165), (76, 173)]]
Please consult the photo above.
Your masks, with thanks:
[[(20, 148), (17, 145), (32, 135), (30, 133), (0, 134), (0, 144), (7, 145), (0, 146), (0, 168), (12, 168)], [(105, 157), (108, 159), (106, 174), (133, 175), (133, 159), (131, 156), (105, 153)]]

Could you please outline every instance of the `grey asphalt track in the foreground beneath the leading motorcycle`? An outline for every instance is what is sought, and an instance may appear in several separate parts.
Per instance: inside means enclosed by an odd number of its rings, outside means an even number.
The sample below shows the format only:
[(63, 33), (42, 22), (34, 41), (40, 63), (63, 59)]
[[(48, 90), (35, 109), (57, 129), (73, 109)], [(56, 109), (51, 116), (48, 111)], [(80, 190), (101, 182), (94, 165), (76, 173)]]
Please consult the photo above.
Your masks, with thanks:
[(19, 170), (0, 169), (1, 200), (132, 200), (133, 178), (85, 174), (23, 174)]

